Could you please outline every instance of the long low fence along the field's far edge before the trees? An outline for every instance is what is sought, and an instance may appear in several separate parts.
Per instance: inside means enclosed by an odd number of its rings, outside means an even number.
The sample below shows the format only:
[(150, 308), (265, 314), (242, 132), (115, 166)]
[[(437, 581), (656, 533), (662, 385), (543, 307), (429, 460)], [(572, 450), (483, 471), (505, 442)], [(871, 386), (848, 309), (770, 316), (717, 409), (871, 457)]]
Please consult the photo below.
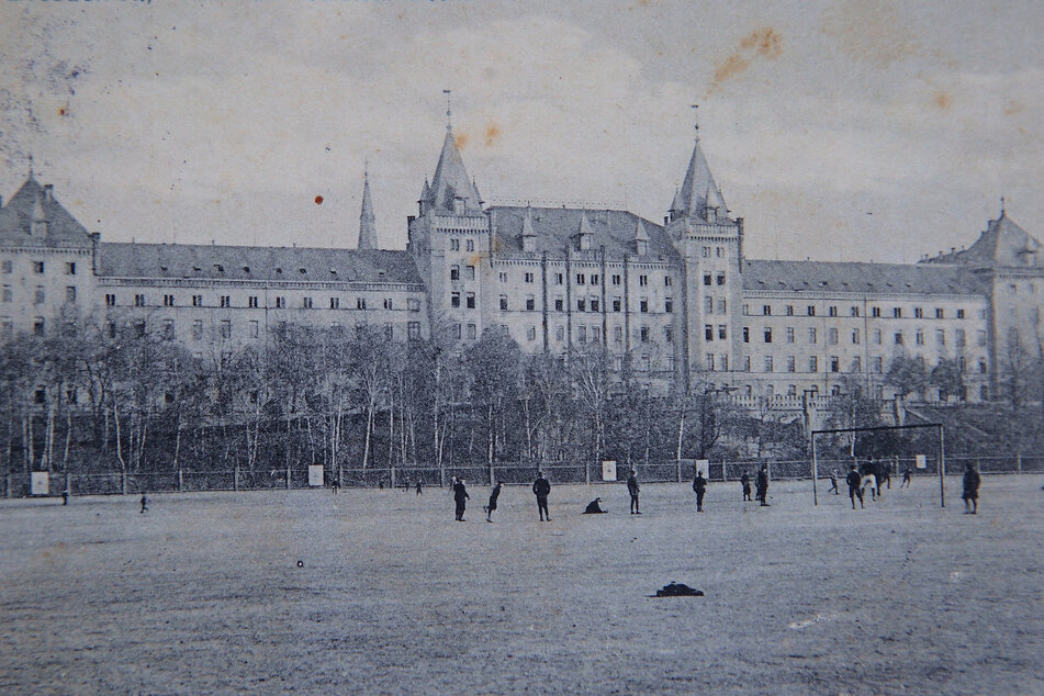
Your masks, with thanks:
[[(852, 463), (864, 464), (866, 460), (821, 459), (818, 460), (818, 476), (829, 479), (833, 473), (843, 476)], [(912, 475), (938, 475), (939, 461), (935, 456), (927, 456), (919, 461), (916, 457), (893, 457), (878, 459), (878, 467), (901, 475), (909, 470)], [(999, 456), (999, 457), (946, 457), (946, 471), (959, 474), (966, 465), (973, 464), (983, 474), (1044, 473), (1044, 456)], [(810, 480), (811, 460), (771, 461), (718, 461), (699, 462), (694, 460), (661, 461), (633, 464), (640, 481), (644, 483), (665, 483), (691, 481), (696, 471), (710, 481), (739, 481), (743, 474), (752, 479), (762, 467), (768, 470), (771, 480)], [(575, 463), (529, 463), (497, 462), (490, 464), (425, 465), (406, 464), (400, 467), (369, 467), (367, 469), (349, 467), (326, 467), (322, 482), (310, 479), (307, 465), (292, 465), (284, 469), (263, 471), (224, 470), (195, 471), (179, 469), (166, 472), (111, 472), (111, 473), (61, 473), (41, 472), (11, 473), (0, 478), (3, 497), (70, 496), (80, 495), (139, 495), (142, 493), (191, 493), (203, 491), (273, 491), (314, 487), (422, 487), (448, 486), (452, 479), (463, 479), (469, 483), (491, 484), (499, 481), (504, 484), (531, 484), (538, 471), (554, 483), (560, 484), (602, 484), (626, 481), (629, 468), (616, 467), (609, 478), (603, 476), (602, 462)], [(35, 478), (35, 481), (34, 481)]]

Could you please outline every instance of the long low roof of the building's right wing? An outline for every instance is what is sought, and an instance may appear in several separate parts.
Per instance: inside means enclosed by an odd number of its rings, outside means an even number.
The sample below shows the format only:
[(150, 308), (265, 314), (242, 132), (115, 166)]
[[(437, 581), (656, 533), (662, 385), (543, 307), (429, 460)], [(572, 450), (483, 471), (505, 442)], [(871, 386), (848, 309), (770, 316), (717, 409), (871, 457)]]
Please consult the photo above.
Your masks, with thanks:
[(743, 262), (743, 290), (858, 294), (984, 294), (970, 269), (924, 263)]

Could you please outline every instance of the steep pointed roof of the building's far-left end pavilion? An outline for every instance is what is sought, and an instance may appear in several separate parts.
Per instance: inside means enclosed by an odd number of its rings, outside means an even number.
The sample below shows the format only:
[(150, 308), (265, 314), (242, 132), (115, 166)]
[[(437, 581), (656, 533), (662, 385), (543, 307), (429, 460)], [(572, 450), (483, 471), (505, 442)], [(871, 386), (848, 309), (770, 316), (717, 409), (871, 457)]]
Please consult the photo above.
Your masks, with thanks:
[[(46, 237), (32, 235), (33, 220), (47, 222)], [(58, 202), (47, 195), (32, 176), (0, 209), (0, 242), (46, 247), (83, 248), (91, 246), (87, 228)]]

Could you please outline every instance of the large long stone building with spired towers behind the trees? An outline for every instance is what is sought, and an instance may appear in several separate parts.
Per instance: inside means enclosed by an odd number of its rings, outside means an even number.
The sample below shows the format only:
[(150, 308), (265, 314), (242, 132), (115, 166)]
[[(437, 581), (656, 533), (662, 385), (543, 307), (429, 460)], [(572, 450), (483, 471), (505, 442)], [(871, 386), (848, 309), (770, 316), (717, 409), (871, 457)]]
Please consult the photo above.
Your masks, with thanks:
[(1041, 244), (1003, 211), (968, 249), (916, 265), (748, 259), (698, 137), (662, 223), (486, 206), (451, 126), (418, 205), (405, 251), (378, 248), (369, 180), (357, 249), (102, 243), (31, 172), (0, 207), (0, 332), (91, 314), (202, 355), (281, 324), (459, 345), (503, 326), (528, 352), (599, 346), (661, 385), (784, 401), (853, 379), (888, 397), (898, 355), (956, 361), (978, 401), (1013, 351), (1042, 352)]

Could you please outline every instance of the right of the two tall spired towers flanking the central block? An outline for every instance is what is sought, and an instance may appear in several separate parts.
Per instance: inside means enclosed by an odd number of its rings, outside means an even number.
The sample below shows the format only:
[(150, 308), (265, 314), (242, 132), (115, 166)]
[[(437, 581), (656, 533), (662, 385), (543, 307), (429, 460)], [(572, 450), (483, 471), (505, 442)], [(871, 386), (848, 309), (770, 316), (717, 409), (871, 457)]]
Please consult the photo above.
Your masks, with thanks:
[(699, 142), (699, 125), (665, 231), (685, 261), (688, 378), (743, 370), (743, 218), (732, 218)]

